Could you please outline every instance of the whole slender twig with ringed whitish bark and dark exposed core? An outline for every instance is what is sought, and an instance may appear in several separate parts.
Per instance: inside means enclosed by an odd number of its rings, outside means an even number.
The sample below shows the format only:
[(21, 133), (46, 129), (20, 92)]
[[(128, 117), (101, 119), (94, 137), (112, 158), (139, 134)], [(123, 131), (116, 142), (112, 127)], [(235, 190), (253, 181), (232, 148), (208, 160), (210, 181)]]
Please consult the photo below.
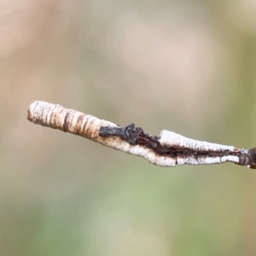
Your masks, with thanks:
[(233, 162), (256, 169), (256, 148), (247, 150), (201, 142), (166, 130), (160, 132), (160, 137), (151, 136), (134, 124), (118, 126), (48, 102), (32, 102), (27, 119), (34, 124), (70, 132), (109, 148), (142, 156), (156, 166)]

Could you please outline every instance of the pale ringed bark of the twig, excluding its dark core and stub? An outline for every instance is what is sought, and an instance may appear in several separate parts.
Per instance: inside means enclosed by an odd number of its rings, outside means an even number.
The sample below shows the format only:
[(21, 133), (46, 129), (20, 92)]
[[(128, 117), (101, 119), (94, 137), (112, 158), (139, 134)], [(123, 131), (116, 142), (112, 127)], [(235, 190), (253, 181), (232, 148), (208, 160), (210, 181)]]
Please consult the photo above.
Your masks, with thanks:
[[(81, 137), (86, 137), (96, 143), (118, 149), (128, 154), (142, 156), (150, 163), (156, 166), (176, 166), (176, 165), (201, 165), (201, 164), (220, 164), (224, 162), (239, 163), (237, 152), (247, 153), (246, 150), (234, 148), (233, 146), (219, 145), (196, 141), (183, 137), (172, 131), (161, 131), (159, 143), (161, 147), (166, 148), (184, 148), (192, 149), (190, 155), (160, 155), (154, 151), (154, 148), (148, 148), (141, 144), (132, 145), (121, 140), (118, 136), (100, 137), (99, 130), (102, 126), (117, 126), (107, 120), (98, 119), (90, 114), (63, 108), (57, 104), (48, 102), (32, 102), (28, 109), (28, 118), (34, 124), (48, 126), (61, 131), (67, 131)], [(211, 157), (202, 152), (216, 152), (217, 154), (225, 152), (227, 155)], [(234, 154), (233, 154), (234, 153)], [(197, 155), (199, 154), (199, 155)]]

